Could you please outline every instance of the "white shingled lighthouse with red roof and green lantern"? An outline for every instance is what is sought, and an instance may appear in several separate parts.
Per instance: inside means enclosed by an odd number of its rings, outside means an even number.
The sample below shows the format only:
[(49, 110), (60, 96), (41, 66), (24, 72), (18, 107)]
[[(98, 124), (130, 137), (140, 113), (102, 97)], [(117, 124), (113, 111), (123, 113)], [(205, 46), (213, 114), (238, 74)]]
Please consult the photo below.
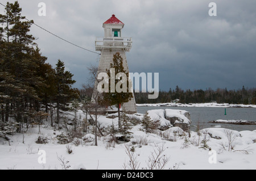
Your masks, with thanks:
[[(125, 26), (115, 15), (113, 14), (111, 18), (103, 23), (104, 37), (96, 37), (95, 47), (96, 51), (101, 52), (100, 62), (98, 64), (98, 73), (106, 72), (110, 69), (110, 64), (113, 63), (113, 56), (115, 53), (119, 53), (123, 58), (123, 68), (125, 71), (129, 72), (126, 52), (130, 52), (132, 39), (131, 37), (123, 37), (122, 29)], [(97, 94), (98, 81), (94, 83), (93, 94)], [(99, 96), (101, 96), (99, 94)], [(95, 100), (92, 99), (92, 103)], [(121, 105), (120, 105), (121, 106)], [(101, 108), (102, 112), (107, 111), (108, 108)], [(123, 103), (121, 110), (128, 113), (137, 112), (137, 107), (135, 103), (134, 93), (133, 98), (127, 103)]]

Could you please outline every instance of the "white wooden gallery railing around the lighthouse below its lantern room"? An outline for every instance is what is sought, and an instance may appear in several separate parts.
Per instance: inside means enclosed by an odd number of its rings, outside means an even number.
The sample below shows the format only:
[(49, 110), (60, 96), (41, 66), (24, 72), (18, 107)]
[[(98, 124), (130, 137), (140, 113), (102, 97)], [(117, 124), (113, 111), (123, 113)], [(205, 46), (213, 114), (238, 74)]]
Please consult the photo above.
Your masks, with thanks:
[(97, 51), (102, 48), (124, 48), (129, 52), (132, 43), (131, 37), (96, 37), (95, 47)]

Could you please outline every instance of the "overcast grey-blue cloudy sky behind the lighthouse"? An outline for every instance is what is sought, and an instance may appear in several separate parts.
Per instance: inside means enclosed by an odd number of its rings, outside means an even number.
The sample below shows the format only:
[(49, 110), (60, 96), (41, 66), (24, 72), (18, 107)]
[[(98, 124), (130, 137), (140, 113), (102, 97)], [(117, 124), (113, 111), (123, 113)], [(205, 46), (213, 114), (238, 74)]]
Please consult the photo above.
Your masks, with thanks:
[[(102, 23), (115, 14), (125, 24), (122, 36), (133, 38), (133, 48), (126, 53), (130, 72), (159, 73), (161, 90), (256, 87), (255, 0), (18, 2), (26, 18), (93, 51), (96, 37), (104, 36)], [(39, 2), (46, 3), (46, 16), (38, 15)], [(217, 16), (209, 16), (210, 2), (216, 3)], [(88, 82), (87, 67), (98, 65), (97, 54), (36, 26), (31, 34), (53, 67), (58, 59), (65, 62), (77, 81), (75, 87)]]

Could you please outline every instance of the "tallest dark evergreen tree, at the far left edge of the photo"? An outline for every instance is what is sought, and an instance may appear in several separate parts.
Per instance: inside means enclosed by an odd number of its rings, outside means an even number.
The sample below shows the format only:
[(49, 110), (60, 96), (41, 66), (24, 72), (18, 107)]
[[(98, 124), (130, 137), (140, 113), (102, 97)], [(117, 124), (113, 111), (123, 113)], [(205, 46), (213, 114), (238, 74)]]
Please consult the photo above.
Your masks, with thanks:
[[(10, 104), (13, 117), (22, 124), (28, 121), (28, 117), (34, 112), (35, 100), (39, 100), (34, 87), (35, 62), (32, 60), (31, 52), (35, 38), (29, 35), (32, 22), (22, 17), (22, 9), (17, 1), (7, 3), (6, 12), (0, 15), (1, 27), (1, 94), (5, 95), (6, 121), (10, 115)], [(35, 104), (34, 104), (35, 105)]]

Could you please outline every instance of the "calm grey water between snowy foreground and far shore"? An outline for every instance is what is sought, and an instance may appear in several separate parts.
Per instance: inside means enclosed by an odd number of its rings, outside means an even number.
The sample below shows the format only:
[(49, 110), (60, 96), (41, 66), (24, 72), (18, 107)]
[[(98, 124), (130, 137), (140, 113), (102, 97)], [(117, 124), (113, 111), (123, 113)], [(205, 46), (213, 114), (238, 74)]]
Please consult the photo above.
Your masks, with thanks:
[(137, 106), (138, 113), (146, 113), (148, 110), (158, 109), (173, 109), (173, 110), (185, 110), (190, 112), (191, 115), (191, 131), (196, 131), (196, 126), (200, 123), (201, 128), (213, 128), (221, 127), (227, 129), (233, 129), (236, 131), (254, 131), (256, 125), (236, 125), (236, 124), (216, 124), (208, 123), (213, 120), (248, 120), (256, 121), (256, 108), (225, 108), (222, 107), (151, 107), (151, 106)]

